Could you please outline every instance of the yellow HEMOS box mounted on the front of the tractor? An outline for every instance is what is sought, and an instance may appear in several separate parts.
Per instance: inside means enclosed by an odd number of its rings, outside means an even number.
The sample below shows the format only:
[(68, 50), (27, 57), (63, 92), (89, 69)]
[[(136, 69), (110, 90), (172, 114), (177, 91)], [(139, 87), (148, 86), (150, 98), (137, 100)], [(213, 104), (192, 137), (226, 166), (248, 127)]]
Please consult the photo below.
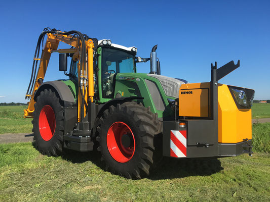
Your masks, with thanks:
[[(179, 116), (210, 118), (210, 83), (182, 84)], [(218, 84), (218, 142), (237, 143), (251, 139), (251, 109), (238, 109), (229, 87)]]

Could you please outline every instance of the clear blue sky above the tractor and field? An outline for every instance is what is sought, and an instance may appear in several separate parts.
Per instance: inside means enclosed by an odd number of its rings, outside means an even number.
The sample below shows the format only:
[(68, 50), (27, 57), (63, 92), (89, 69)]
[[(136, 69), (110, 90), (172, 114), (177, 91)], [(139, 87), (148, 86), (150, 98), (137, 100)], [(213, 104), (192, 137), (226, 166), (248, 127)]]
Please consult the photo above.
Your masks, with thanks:
[[(219, 82), (270, 99), (270, 1), (5, 1), (1, 4), (0, 103), (23, 102), (37, 38), (45, 27), (78, 30), (136, 46), (158, 44), (161, 72), (189, 83), (210, 81), (211, 63), (241, 66)], [(61, 48), (61, 46), (59, 46)], [(149, 72), (149, 62), (137, 71)], [(53, 54), (45, 80), (65, 78)]]

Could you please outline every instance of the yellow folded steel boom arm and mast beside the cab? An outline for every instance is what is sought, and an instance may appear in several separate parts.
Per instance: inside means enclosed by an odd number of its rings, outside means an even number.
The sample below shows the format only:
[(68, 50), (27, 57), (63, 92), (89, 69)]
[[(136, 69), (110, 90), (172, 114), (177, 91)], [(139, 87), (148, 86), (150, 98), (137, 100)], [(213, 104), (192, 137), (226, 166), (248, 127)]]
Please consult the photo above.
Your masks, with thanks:
[[(40, 60), (40, 65), (38, 66), (37, 70), (37, 75), (35, 78), (34, 82), (34, 87), (33, 91), (30, 95), (30, 102), (28, 103), (28, 107), (26, 110), (24, 110), (24, 118), (32, 118), (33, 117), (33, 112), (34, 112), (34, 104), (35, 101), (33, 99), (34, 94), (38, 87), (40, 87), (40, 83), (38, 82), (38, 79), (44, 79), (48, 64), (51, 58), (51, 54), (53, 52), (58, 52), (58, 53), (74, 53), (72, 59), (74, 61), (80, 61), (80, 47), (82, 47), (82, 44), (78, 44), (77, 38), (72, 37), (72, 35), (63, 35), (63, 34), (52, 34), (48, 33), (47, 34), (47, 40), (45, 43), (45, 47), (42, 50), (42, 55), (41, 58), (34, 58), (34, 60)], [(59, 42), (64, 42), (66, 44), (69, 44), (73, 46), (74, 48), (69, 48), (69, 49), (57, 49)], [(84, 67), (80, 62), (78, 64), (78, 77), (79, 77), (79, 82), (81, 77), (85, 77), (84, 75), (81, 75), (81, 70), (83, 72), (87, 72), (87, 81), (88, 85), (86, 88), (83, 88), (83, 93), (86, 94), (85, 96), (85, 102), (87, 103), (88, 98), (93, 102), (93, 97), (94, 97), (94, 76), (93, 76), (93, 48), (94, 48), (94, 43), (91, 39), (89, 39), (86, 42), (86, 48), (87, 48), (87, 67)], [(83, 56), (81, 56), (83, 57)], [(78, 121), (81, 121), (81, 104), (82, 104), (82, 94), (79, 90), (79, 97), (78, 97)], [(84, 111), (86, 114), (86, 108), (84, 107)]]

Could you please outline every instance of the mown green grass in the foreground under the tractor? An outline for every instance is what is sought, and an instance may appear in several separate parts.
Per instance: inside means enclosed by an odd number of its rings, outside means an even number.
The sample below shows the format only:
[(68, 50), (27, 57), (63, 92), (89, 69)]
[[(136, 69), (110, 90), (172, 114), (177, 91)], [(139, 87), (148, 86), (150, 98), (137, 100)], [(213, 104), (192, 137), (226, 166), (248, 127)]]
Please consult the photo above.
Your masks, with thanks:
[(31, 143), (0, 144), (0, 201), (270, 200), (269, 154), (170, 160), (142, 180), (105, 172), (97, 159), (76, 152), (46, 157)]

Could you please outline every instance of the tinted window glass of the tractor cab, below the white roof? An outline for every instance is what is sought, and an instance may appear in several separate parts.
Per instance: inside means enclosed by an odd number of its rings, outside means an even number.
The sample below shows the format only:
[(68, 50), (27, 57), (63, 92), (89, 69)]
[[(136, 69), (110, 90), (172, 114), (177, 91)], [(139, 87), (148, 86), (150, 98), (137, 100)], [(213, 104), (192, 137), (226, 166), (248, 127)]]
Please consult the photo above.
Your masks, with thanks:
[(134, 73), (134, 55), (113, 48), (102, 48), (101, 63), (102, 96), (113, 96), (115, 73)]

